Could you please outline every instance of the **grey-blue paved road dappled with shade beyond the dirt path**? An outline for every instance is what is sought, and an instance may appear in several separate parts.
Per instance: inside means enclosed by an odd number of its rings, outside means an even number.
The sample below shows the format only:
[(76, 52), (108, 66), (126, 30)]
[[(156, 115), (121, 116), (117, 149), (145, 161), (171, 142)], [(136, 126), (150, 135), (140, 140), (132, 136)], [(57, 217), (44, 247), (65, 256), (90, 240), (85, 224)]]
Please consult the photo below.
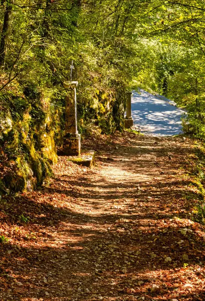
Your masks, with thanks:
[(184, 111), (171, 105), (167, 98), (154, 96), (140, 90), (133, 93), (131, 101), (134, 125), (141, 131), (154, 134), (175, 135), (182, 131), (181, 116)]

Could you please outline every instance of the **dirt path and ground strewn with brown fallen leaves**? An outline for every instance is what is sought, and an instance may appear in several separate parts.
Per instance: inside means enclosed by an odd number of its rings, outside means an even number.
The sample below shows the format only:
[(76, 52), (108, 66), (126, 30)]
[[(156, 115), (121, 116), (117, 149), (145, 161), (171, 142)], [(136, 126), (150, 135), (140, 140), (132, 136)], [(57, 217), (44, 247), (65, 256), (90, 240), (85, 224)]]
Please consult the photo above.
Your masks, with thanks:
[(95, 169), (59, 157), (49, 186), (1, 199), (0, 300), (204, 300), (196, 145), (125, 132), (84, 147)]

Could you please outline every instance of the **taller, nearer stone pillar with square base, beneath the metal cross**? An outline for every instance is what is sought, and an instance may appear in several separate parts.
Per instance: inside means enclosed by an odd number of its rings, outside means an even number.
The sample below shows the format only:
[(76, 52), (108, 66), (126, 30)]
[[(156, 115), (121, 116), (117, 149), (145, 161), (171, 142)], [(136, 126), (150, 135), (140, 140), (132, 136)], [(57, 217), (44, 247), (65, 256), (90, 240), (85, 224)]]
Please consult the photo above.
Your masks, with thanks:
[(78, 82), (63, 83), (68, 90), (65, 97), (65, 136), (63, 138), (63, 153), (67, 156), (80, 155), (80, 135), (77, 131), (76, 87)]

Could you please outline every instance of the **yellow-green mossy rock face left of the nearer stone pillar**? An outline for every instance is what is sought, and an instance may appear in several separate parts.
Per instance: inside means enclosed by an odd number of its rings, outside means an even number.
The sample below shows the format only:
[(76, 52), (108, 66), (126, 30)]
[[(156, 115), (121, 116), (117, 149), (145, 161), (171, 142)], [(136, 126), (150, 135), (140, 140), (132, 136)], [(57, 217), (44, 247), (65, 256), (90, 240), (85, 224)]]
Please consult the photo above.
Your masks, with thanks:
[(51, 94), (51, 89), (40, 94), (32, 88), (23, 97), (5, 97), (10, 102), (0, 111), (0, 144), (13, 169), (0, 182), (2, 193), (32, 189), (52, 176), (50, 165), (57, 162), (55, 123), (60, 131), (60, 121), (50, 105)]

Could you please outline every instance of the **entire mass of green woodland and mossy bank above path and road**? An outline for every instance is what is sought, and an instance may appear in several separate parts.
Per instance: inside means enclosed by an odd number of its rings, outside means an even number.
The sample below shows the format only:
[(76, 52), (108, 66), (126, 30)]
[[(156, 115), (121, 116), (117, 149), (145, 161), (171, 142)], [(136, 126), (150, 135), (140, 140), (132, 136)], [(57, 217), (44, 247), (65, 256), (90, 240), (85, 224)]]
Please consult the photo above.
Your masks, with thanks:
[(71, 61), (80, 133), (89, 124), (122, 130), (125, 92), (140, 86), (186, 108), (184, 130), (204, 139), (203, 15), (199, 0), (13, 0), (9, 9), (3, 2), (0, 145), (18, 178), (10, 172), (1, 186), (25, 190), (51, 175)]

